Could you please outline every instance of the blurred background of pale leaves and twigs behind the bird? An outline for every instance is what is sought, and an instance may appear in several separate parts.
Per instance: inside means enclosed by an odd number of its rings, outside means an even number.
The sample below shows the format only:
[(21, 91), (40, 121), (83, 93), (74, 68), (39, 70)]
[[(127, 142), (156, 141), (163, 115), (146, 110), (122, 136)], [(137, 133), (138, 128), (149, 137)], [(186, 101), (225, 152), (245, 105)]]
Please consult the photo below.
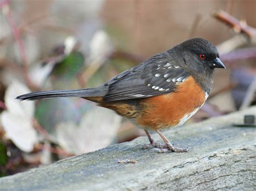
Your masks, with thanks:
[(99, 86), (189, 38), (217, 45), (227, 69), (187, 123), (255, 104), (254, 0), (0, 0), (0, 9), (0, 176), (144, 135), (80, 98), (16, 96)]

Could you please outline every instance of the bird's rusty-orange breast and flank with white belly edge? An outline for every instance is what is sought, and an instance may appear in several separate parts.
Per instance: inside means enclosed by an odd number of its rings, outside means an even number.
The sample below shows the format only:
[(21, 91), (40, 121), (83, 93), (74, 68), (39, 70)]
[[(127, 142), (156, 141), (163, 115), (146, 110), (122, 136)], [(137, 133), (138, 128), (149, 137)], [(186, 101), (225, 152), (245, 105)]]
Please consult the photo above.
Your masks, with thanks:
[(140, 101), (136, 122), (148, 129), (182, 125), (196, 114), (206, 98), (205, 91), (190, 76), (176, 91)]

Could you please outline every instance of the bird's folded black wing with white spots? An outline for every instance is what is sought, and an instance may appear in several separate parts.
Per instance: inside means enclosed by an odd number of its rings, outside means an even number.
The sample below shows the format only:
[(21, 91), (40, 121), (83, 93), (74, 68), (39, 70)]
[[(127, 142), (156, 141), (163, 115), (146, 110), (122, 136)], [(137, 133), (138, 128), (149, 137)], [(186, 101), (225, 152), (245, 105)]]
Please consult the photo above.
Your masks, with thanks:
[(190, 76), (166, 53), (160, 53), (113, 77), (103, 101), (120, 101), (152, 97), (174, 91), (178, 84)]

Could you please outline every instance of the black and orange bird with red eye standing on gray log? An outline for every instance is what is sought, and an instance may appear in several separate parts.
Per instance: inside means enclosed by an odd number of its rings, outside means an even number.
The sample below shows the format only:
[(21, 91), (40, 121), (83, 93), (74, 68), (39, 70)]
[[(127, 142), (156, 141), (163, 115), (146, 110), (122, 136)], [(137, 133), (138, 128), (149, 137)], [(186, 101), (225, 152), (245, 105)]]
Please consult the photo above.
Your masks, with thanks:
[[(205, 103), (213, 84), (215, 68), (225, 68), (217, 48), (203, 38), (193, 38), (112, 77), (102, 86), (77, 90), (41, 91), (16, 97), (40, 100), (81, 97), (116, 111), (142, 128), (159, 152), (187, 152), (174, 146), (163, 130), (183, 125)], [(164, 144), (156, 142), (156, 131)]]

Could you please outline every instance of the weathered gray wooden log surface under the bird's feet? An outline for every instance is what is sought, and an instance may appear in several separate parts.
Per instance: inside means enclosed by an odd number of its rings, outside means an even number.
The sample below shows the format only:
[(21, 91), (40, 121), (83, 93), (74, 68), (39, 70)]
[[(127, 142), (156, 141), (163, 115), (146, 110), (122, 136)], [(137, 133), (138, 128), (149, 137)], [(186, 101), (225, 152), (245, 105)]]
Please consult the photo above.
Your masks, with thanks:
[[(164, 132), (187, 153), (142, 150), (140, 137), (1, 178), (0, 190), (255, 190), (256, 129), (232, 125), (244, 114), (256, 107)], [(136, 163), (118, 164), (126, 159)]]

